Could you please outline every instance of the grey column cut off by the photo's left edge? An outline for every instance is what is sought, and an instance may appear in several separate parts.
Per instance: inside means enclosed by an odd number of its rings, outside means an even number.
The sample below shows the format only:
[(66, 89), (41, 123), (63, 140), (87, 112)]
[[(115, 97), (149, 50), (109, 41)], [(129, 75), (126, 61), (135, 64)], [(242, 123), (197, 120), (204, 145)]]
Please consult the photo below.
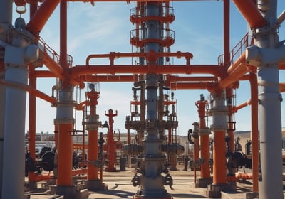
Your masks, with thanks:
[[(0, 23), (11, 24), (12, 21), (12, 0), (1, 1), (0, 6)], [(6, 42), (6, 33), (0, 33), (0, 40)], [(0, 62), (4, 60), (0, 60)], [(1, 64), (1, 63), (0, 63)], [(5, 79), (5, 72), (0, 71), (0, 80)], [(6, 90), (3, 85), (0, 85), (0, 195), (2, 194), (2, 173), (3, 173), (3, 149), (4, 149), (4, 121), (5, 121), (5, 104), (6, 104)]]

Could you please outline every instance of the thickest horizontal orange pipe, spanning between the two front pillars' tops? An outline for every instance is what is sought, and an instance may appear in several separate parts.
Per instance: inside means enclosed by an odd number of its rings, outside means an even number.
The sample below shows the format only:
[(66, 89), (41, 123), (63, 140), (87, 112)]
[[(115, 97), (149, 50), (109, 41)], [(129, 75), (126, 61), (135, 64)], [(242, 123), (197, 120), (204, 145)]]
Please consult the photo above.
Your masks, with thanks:
[(212, 74), (219, 75), (218, 65), (76, 65), (71, 70), (71, 76), (76, 79), (81, 75), (93, 74), (142, 74), (154, 72), (156, 74)]

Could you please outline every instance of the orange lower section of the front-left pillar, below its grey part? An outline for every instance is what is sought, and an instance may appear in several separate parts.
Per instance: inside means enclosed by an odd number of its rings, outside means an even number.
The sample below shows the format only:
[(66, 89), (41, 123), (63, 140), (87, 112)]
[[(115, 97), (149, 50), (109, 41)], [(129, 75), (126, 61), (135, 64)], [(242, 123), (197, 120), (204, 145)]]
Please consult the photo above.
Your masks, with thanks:
[(58, 178), (56, 185), (72, 185), (73, 124), (58, 124)]

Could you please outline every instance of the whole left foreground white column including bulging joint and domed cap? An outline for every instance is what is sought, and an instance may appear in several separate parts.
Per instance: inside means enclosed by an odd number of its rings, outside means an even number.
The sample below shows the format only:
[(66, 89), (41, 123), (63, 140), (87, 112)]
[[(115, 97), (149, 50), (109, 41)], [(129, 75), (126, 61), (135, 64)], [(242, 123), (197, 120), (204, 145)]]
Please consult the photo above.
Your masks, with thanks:
[[(26, 65), (38, 59), (38, 47), (22, 34), (25, 21), (17, 18), (11, 44), (4, 45), (5, 80), (27, 85)], [(1, 198), (24, 197), (26, 91), (6, 87)]]

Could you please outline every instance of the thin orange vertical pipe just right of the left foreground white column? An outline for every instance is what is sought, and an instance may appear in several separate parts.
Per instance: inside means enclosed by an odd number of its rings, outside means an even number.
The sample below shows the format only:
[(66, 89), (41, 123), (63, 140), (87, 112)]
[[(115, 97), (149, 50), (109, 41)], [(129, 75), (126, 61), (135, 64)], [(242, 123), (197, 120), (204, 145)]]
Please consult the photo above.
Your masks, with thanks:
[[(36, 77), (33, 76), (35, 68), (29, 67), (29, 86), (36, 89)], [(28, 151), (31, 158), (36, 159), (36, 96), (28, 95)], [(28, 172), (28, 182), (36, 181), (36, 174)]]

